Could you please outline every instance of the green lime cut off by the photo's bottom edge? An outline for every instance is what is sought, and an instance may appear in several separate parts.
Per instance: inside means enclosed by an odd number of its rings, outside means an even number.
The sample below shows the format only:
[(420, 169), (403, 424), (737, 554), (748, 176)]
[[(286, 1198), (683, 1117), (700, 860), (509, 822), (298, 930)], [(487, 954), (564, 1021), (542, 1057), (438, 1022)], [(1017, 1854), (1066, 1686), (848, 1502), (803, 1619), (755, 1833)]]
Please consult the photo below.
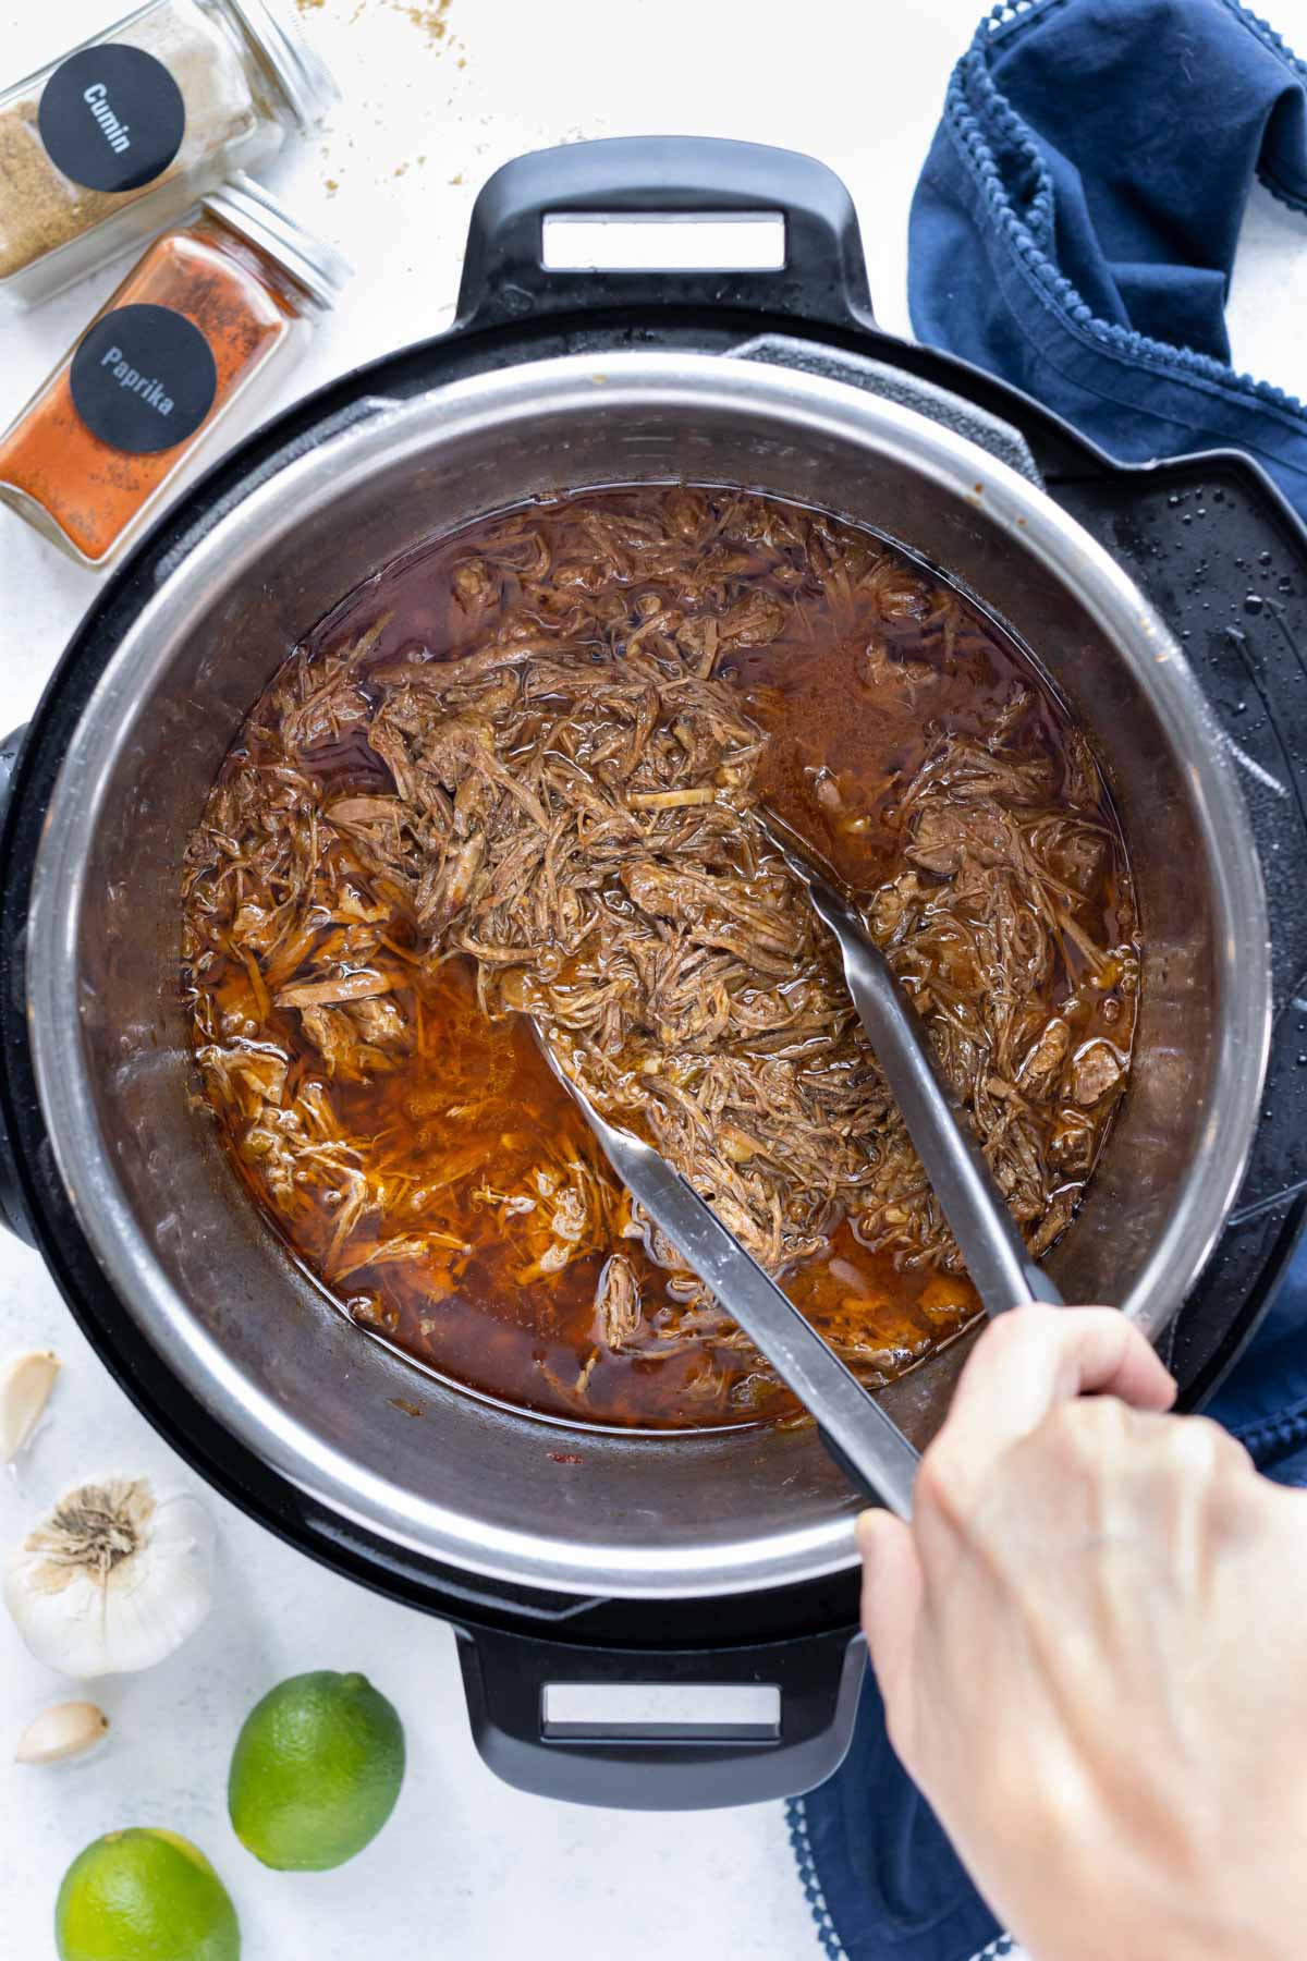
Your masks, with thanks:
[(227, 1888), (176, 1832), (106, 1832), (63, 1875), (59, 1961), (239, 1961)]

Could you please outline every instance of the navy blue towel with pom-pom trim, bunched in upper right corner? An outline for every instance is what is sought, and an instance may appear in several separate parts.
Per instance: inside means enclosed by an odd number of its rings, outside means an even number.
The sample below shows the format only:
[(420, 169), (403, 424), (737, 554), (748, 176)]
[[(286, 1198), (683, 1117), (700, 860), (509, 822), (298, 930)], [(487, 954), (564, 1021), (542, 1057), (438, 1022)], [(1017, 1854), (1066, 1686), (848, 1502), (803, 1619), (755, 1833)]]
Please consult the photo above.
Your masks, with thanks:
[(1307, 214), (1307, 67), (1234, 0), (999, 6), (913, 198), (913, 329), (1125, 461), (1246, 449), (1307, 516), (1307, 410), (1229, 361), (1254, 176)]

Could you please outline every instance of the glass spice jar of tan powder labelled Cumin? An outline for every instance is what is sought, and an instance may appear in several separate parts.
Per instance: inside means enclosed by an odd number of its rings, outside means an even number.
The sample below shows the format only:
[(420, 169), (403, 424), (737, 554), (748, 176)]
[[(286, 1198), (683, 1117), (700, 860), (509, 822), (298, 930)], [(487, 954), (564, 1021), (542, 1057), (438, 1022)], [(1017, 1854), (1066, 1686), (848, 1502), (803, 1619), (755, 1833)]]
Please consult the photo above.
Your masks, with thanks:
[(0, 296), (31, 306), (337, 100), (290, 0), (151, 0), (0, 94)]

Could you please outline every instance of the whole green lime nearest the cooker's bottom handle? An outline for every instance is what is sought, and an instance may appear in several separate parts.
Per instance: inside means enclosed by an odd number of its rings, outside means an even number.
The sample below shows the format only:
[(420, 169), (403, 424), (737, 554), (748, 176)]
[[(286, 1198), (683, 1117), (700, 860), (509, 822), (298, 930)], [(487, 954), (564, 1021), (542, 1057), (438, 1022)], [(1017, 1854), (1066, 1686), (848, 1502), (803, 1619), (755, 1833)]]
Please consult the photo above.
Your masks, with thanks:
[(235, 1835), (278, 1873), (345, 1865), (386, 1824), (404, 1781), (404, 1728), (366, 1675), (292, 1675), (235, 1739)]

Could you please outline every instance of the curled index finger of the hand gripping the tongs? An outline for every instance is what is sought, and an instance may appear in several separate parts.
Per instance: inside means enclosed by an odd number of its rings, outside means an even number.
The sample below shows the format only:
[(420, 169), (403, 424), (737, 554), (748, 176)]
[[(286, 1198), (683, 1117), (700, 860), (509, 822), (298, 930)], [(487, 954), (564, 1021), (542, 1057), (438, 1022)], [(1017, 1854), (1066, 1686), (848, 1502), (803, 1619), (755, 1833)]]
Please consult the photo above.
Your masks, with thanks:
[(1170, 1410), (1176, 1383), (1117, 1308), (1013, 1308), (972, 1349), (937, 1447), (980, 1473), (1054, 1404), (1088, 1394)]

